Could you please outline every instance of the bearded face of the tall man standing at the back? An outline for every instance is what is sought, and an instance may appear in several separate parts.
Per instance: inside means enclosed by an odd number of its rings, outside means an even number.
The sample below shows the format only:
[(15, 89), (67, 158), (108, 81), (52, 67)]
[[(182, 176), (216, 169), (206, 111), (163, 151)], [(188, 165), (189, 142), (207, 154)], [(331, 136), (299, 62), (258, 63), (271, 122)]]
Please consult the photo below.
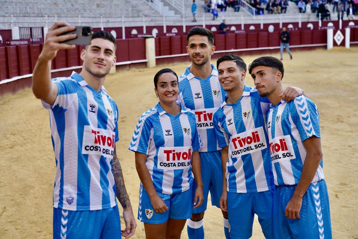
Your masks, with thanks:
[(189, 37), (187, 52), (193, 64), (202, 66), (209, 62), (211, 55), (214, 54), (215, 46), (209, 43), (209, 38), (202, 35), (192, 35)]

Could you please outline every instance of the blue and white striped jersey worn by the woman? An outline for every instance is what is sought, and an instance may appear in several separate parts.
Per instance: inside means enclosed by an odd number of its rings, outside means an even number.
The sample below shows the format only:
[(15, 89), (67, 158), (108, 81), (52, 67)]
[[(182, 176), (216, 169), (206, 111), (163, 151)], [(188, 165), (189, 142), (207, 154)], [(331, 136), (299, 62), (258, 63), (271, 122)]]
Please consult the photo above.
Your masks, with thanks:
[(200, 148), (193, 111), (176, 103), (181, 107), (176, 116), (166, 113), (159, 103), (145, 111), (129, 145), (130, 150), (147, 154), (145, 164), (155, 190), (169, 195), (192, 186), (192, 154)]

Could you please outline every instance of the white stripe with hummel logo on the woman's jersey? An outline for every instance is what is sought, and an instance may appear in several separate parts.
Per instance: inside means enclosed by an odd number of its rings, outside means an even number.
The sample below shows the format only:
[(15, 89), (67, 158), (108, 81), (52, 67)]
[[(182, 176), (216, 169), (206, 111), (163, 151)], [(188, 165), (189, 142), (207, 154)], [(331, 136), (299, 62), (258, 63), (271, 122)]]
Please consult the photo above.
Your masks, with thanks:
[[(163, 114), (159, 117), (160, 124), (162, 125), (163, 135), (165, 135), (165, 130), (170, 129), (170, 132), (173, 132), (173, 128), (170, 123), (170, 118), (168, 115)], [(165, 128), (163, 127), (165, 125)], [(168, 135), (164, 137), (164, 147), (174, 147), (174, 132), (172, 135)], [(174, 182), (174, 170), (163, 170), (163, 192), (165, 194), (172, 194), (173, 190), (173, 182)]]

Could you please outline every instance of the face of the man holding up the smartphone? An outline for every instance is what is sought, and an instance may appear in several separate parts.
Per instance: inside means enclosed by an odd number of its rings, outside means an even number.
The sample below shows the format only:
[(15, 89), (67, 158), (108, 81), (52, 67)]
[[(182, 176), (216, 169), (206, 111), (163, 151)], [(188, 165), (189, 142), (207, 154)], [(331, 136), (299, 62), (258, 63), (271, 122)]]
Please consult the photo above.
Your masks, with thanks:
[(84, 69), (97, 78), (105, 77), (116, 63), (115, 46), (106, 39), (95, 38), (82, 50)]

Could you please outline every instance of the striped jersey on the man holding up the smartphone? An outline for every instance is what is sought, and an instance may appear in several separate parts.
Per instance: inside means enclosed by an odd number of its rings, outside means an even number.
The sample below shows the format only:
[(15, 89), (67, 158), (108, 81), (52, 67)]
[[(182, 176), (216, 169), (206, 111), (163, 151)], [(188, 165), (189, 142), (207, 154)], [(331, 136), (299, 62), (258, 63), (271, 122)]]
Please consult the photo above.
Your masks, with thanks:
[(83, 211), (115, 206), (111, 171), (118, 138), (118, 108), (102, 89), (97, 92), (76, 72), (52, 79), (58, 95), (49, 110), (56, 159), (55, 208)]

